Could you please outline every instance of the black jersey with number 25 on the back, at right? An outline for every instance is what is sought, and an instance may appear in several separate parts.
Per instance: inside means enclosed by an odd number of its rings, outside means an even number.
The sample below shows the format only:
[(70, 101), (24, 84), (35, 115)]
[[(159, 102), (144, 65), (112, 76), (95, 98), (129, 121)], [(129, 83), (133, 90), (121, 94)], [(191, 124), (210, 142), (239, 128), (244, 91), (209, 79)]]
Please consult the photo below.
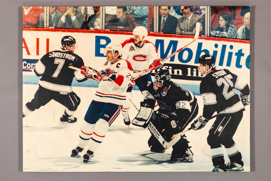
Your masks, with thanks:
[(214, 112), (234, 113), (244, 109), (236, 89), (243, 89), (246, 82), (237, 80), (238, 76), (227, 69), (215, 69), (203, 77), (200, 83), (200, 94), (203, 99), (204, 118), (210, 119)]

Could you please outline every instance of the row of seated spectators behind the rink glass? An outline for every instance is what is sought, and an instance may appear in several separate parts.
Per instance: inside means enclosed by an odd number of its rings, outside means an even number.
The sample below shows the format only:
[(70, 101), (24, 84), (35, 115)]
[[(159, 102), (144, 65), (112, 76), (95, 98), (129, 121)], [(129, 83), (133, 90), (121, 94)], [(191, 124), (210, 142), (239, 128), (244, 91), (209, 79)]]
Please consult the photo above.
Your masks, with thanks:
[(250, 39), (249, 6), (24, 6), (23, 27), (133, 31)]

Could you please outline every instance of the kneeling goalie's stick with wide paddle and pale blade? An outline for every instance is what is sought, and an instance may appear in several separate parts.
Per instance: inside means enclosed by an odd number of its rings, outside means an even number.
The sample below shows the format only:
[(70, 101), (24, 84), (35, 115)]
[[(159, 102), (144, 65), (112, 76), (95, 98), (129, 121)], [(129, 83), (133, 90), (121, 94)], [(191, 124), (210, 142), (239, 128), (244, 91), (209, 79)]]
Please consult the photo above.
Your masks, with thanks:
[[(129, 99), (130, 102), (134, 105), (134, 103), (132, 102), (131, 99)], [(137, 108), (136, 105), (134, 105), (134, 108), (136, 108), (137, 111), (139, 111), (139, 109)], [(165, 148), (165, 150), (169, 149), (170, 147), (172, 147), (175, 143), (177, 143), (180, 139), (181, 136), (177, 136), (174, 139), (172, 139), (171, 141), (167, 142), (165, 141), (165, 139), (162, 137), (162, 135), (157, 131), (157, 129), (155, 128), (155, 126), (153, 125), (153, 123), (149, 122), (148, 125), (148, 129), (150, 130), (150, 132), (153, 134), (153, 136), (156, 137), (156, 139), (160, 142), (160, 144)]]

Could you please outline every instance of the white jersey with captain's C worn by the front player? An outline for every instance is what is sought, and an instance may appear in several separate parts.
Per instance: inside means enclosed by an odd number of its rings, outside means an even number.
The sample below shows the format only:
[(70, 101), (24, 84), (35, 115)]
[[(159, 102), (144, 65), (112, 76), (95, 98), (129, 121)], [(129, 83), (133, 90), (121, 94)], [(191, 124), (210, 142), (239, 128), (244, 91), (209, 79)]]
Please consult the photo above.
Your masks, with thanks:
[(119, 60), (113, 64), (106, 61), (102, 68), (116, 72), (116, 79), (114, 81), (102, 80), (93, 100), (123, 105), (126, 100), (126, 90), (133, 77), (131, 63), (127, 60)]

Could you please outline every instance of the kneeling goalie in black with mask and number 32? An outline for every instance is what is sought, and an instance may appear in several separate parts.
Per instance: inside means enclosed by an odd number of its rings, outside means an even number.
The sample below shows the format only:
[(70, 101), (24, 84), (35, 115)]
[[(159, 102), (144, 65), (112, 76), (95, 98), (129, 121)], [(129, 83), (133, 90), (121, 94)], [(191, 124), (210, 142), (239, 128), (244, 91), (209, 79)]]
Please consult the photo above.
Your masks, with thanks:
[[(184, 87), (170, 81), (168, 70), (160, 70), (154, 77), (154, 82), (144, 91), (144, 101), (140, 103), (140, 111), (132, 121), (133, 125), (147, 128), (150, 122), (165, 139), (171, 141), (173, 134), (177, 134), (197, 116), (197, 99), (193, 93)], [(159, 109), (154, 112), (154, 105)], [(150, 126), (148, 127), (150, 130)], [(148, 144), (150, 151), (162, 153), (165, 148), (152, 133)], [(188, 146), (185, 135), (172, 146), (172, 162), (193, 162), (193, 153)]]

